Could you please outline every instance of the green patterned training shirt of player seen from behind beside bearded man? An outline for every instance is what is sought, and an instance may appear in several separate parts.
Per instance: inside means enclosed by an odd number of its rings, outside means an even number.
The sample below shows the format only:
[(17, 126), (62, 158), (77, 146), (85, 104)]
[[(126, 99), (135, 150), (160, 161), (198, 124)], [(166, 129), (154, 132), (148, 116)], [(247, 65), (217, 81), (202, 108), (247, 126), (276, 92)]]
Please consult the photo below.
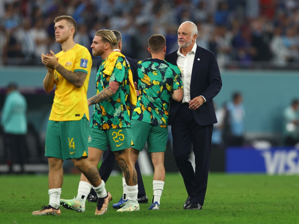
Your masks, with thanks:
[(138, 97), (132, 119), (167, 128), (170, 97), (183, 89), (179, 67), (160, 59), (145, 59), (137, 64)]

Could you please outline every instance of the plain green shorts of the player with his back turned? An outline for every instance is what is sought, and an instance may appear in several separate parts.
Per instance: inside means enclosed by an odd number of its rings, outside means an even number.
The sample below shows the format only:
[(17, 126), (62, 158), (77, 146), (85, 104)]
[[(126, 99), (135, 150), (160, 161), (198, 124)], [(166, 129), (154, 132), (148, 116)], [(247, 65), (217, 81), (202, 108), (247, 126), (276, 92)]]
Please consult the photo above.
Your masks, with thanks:
[(132, 148), (142, 151), (147, 142), (149, 152), (165, 152), (168, 128), (153, 126), (143, 121), (131, 120), (131, 129), (134, 135), (134, 146)]

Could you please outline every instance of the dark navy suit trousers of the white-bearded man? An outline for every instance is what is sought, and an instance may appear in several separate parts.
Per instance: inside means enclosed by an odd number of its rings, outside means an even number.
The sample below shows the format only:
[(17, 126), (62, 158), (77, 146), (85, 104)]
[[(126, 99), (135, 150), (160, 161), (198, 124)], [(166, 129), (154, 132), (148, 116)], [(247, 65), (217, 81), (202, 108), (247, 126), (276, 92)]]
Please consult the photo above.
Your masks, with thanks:
[[(171, 125), (173, 154), (191, 202), (203, 205), (208, 184), (213, 124), (199, 125), (188, 107), (188, 103), (181, 104)], [(195, 173), (188, 159), (192, 146)]]

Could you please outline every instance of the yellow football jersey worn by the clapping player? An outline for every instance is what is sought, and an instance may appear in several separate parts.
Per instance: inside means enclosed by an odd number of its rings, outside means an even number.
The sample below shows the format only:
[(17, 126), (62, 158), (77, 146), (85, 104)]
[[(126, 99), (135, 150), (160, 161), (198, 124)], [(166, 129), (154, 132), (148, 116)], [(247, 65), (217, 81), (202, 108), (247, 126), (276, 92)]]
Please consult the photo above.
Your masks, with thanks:
[(86, 47), (76, 44), (72, 49), (55, 55), (58, 62), (72, 72), (86, 72), (87, 76), (83, 86), (77, 88), (54, 71), (56, 84), (54, 102), (49, 120), (51, 121), (78, 121), (83, 115), (89, 120), (87, 106), (87, 88), (91, 71), (91, 55)]

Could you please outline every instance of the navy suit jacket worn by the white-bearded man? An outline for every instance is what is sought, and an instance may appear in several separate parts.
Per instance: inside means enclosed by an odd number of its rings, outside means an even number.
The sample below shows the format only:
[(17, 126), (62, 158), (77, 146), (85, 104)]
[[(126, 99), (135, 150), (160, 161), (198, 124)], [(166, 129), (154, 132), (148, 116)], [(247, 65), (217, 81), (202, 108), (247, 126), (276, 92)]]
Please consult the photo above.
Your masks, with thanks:
[[(165, 60), (177, 66), (177, 52), (174, 51), (165, 55)], [(202, 95), (206, 99), (206, 102), (202, 106), (196, 110), (192, 110), (195, 121), (199, 125), (217, 123), (213, 98), (220, 92), (221, 87), (222, 81), (215, 54), (197, 46), (191, 73), (190, 97), (192, 100)], [(180, 105), (181, 102), (177, 102), (172, 98), (170, 99), (168, 125), (173, 123), (174, 115)]]

